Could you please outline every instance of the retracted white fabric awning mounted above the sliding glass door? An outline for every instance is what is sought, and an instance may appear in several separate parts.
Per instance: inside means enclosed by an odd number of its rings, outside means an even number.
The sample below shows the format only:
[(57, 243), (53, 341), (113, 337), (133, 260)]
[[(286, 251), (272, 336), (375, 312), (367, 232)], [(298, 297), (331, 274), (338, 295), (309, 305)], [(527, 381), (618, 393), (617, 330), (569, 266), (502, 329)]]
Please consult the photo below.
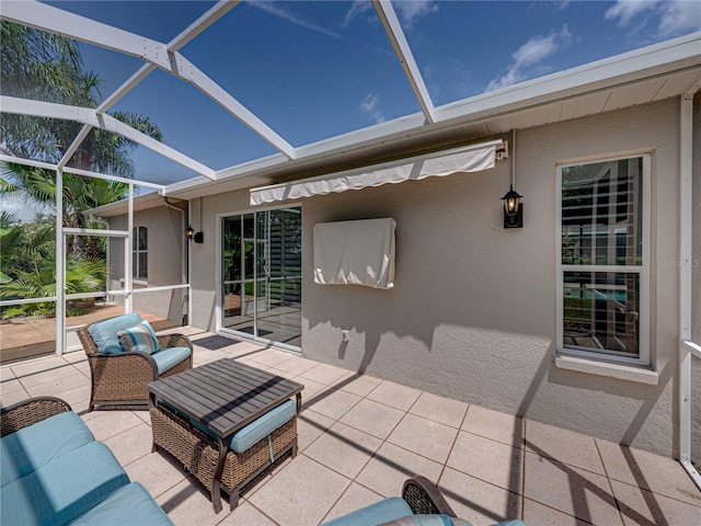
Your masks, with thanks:
[(331, 192), (340, 193), (346, 190), (380, 186), (387, 183), (403, 183), (425, 178), (443, 178), (453, 173), (489, 170), (494, 168), (496, 149), (503, 145), (502, 139), (492, 140), (391, 163), (252, 188), (251, 204), (262, 205), (275, 201), (298, 199), (312, 195), (325, 195)]

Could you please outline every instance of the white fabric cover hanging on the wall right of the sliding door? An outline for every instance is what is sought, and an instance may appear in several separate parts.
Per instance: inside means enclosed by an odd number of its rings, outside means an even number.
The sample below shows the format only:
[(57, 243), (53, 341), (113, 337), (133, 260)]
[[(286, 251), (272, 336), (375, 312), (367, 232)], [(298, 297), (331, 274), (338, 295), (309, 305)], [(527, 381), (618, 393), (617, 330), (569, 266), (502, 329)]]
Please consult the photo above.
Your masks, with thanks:
[(395, 228), (392, 218), (314, 225), (314, 282), (392, 288)]

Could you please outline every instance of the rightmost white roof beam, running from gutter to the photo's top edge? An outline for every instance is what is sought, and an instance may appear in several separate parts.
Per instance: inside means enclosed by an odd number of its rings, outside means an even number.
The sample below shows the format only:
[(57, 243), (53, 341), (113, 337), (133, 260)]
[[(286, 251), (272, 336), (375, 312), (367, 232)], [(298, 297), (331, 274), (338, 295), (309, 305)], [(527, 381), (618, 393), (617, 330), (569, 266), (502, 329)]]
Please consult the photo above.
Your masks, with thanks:
[(424, 83), (424, 78), (416, 65), (416, 60), (414, 60), (414, 55), (412, 54), (412, 49), (409, 46), (406, 37), (404, 36), (404, 32), (399, 23), (394, 8), (392, 8), (389, 0), (372, 0), (372, 7), (375, 8), (377, 18), (380, 20), (380, 24), (382, 24), (382, 27), (384, 28), (384, 33), (387, 33), (387, 37), (390, 39), (390, 44), (392, 45), (392, 49), (394, 49), (397, 58), (399, 58), (402, 69), (404, 70), (404, 75), (406, 76), (406, 80), (409, 80), (412, 91), (414, 92), (414, 96), (416, 96), (418, 105), (421, 106), (421, 111), (426, 117), (426, 122), (429, 124), (434, 123), (435, 108), (430, 101), (430, 94)]

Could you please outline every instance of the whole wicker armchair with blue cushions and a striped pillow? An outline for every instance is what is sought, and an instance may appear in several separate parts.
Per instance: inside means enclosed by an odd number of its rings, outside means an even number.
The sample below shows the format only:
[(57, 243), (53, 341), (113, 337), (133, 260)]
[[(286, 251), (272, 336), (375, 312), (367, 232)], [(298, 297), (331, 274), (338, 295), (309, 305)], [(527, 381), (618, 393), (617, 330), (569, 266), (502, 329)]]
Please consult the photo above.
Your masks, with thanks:
[(152, 352), (125, 351), (119, 333), (140, 323), (139, 313), (130, 312), (78, 329), (90, 364), (89, 411), (95, 405), (141, 405), (146, 409), (149, 381), (192, 369), (193, 343), (183, 334), (153, 335), (157, 346)]

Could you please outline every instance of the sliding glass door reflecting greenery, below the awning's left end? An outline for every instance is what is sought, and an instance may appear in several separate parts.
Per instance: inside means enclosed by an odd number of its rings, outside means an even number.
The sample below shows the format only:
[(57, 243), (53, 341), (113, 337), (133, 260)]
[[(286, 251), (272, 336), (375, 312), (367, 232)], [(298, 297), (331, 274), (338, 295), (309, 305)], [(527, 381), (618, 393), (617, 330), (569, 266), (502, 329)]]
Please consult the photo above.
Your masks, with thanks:
[(222, 218), (223, 330), (301, 346), (301, 209)]

